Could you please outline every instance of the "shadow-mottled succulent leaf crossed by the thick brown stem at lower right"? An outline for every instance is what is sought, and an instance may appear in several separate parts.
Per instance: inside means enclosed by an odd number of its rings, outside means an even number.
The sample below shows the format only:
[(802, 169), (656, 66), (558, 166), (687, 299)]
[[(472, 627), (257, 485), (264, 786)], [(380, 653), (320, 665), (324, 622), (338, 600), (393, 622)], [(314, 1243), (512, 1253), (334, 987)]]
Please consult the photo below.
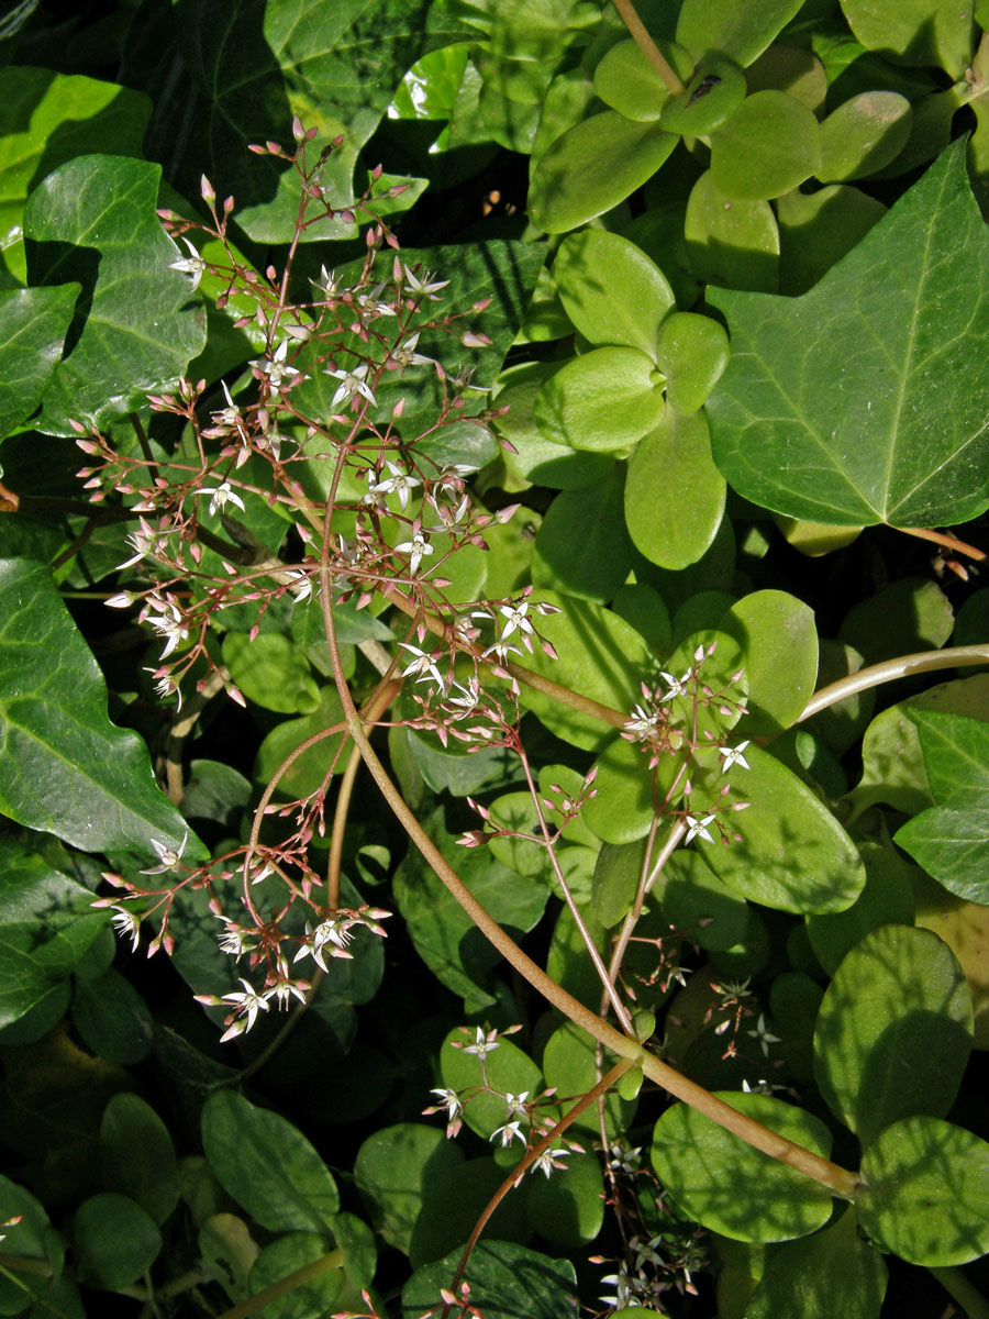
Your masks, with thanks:
[[(769, 1095), (716, 1092), (770, 1130), (823, 1154), (831, 1133), (820, 1119)], [(831, 1191), (762, 1154), (695, 1108), (674, 1104), (655, 1124), (653, 1167), (676, 1203), (712, 1232), (736, 1241), (789, 1241), (831, 1217)]]

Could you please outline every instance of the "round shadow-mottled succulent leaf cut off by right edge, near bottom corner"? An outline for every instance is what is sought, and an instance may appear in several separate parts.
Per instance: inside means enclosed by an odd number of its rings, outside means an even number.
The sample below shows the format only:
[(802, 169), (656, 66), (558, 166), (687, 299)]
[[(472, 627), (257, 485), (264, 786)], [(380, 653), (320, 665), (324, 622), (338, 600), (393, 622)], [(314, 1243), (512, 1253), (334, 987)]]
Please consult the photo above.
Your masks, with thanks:
[(989, 1145), (936, 1117), (893, 1122), (862, 1158), (865, 1232), (909, 1264), (951, 1268), (989, 1250)]

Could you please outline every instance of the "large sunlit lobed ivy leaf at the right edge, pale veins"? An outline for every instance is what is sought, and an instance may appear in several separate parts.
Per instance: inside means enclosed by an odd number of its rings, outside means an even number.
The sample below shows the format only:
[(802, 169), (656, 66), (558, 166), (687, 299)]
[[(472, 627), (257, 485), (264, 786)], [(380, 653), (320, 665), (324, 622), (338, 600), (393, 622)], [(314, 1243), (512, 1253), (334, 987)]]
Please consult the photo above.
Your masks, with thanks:
[(989, 506), (989, 235), (949, 146), (799, 298), (713, 290), (732, 357), (715, 462), (748, 499), (847, 525)]

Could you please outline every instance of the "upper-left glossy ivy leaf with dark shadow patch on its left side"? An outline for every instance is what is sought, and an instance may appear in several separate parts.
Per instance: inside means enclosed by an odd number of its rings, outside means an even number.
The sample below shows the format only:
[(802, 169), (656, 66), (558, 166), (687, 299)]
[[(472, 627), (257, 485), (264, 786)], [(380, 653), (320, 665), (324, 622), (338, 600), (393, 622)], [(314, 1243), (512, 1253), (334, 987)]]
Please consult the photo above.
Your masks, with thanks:
[(80, 156), (34, 189), (24, 210), (32, 282), (78, 280), (70, 347), (45, 392), (38, 429), (102, 426), (175, 380), (206, 342), (206, 314), (179, 249), (154, 214), (161, 170), (123, 156)]

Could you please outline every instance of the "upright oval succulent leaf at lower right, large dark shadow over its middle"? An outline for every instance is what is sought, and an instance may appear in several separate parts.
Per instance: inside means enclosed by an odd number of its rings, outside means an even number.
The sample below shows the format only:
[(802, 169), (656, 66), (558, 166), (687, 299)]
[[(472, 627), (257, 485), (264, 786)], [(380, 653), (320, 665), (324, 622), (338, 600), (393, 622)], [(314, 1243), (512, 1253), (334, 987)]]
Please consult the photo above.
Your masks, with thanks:
[(881, 926), (852, 948), (814, 1038), (822, 1093), (864, 1145), (901, 1117), (943, 1117), (971, 1050), (961, 967), (936, 934), (903, 925)]

